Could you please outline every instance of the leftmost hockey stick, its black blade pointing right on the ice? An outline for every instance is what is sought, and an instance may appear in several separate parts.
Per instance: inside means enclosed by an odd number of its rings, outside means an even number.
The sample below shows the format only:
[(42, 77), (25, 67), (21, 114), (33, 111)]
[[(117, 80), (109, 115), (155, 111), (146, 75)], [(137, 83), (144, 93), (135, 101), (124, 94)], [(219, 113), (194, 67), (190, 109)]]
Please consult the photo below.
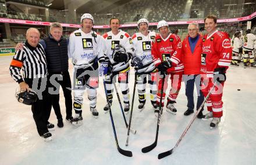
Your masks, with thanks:
[(128, 156), (128, 157), (132, 157), (133, 153), (131, 151), (126, 151), (123, 150), (122, 148), (120, 148), (120, 146), (118, 145), (118, 137), (116, 136), (116, 129), (115, 129), (115, 124), (113, 121), (113, 116), (112, 116), (112, 112), (111, 112), (111, 106), (108, 100), (108, 94), (106, 92), (106, 83), (105, 80), (103, 80), (103, 84), (104, 84), (104, 89), (105, 89), (105, 94), (106, 94), (106, 102), (108, 102), (108, 106), (109, 106), (109, 115), (111, 118), (111, 124), (112, 124), (112, 128), (113, 128), (113, 133), (115, 135), (115, 141), (116, 141), (116, 147), (118, 148), (119, 153), (121, 153), (122, 155)]

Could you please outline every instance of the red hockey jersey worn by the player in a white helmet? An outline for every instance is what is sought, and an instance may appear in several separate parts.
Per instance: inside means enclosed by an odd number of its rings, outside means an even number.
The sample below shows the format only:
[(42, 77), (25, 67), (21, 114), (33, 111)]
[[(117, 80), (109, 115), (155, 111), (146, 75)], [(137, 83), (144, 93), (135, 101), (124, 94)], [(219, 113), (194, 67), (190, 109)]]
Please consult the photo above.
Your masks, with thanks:
[(156, 35), (151, 46), (155, 66), (164, 61), (169, 61), (172, 63), (172, 67), (167, 69), (168, 72), (183, 71), (181, 48), (182, 42), (179, 36), (169, 34), (167, 38), (163, 39), (161, 35)]

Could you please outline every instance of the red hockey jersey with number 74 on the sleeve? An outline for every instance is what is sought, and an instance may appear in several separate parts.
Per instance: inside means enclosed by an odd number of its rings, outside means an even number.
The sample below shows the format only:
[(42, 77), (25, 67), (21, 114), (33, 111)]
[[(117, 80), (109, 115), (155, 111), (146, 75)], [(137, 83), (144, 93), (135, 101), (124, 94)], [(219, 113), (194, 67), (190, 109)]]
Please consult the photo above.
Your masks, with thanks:
[(214, 69), (228, 68), (232, 59), (232, 47), (229, 36), (216, 30), (202, 39), (201, 74), (212, 78)]

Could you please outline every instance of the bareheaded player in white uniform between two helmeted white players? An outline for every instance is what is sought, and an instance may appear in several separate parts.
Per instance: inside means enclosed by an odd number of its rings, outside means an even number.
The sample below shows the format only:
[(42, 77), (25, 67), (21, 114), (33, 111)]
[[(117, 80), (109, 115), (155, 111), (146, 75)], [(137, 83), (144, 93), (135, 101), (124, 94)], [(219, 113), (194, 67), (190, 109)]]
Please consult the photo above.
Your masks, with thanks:
[[(112, 64), (112, 76), (106, 83), (106, 90), (108, 94), (109, 103), (112, 105), (112, 92), (113, 92), (113, 79), (118, 76), (118, 82), (123, 94), (124, 111), (127, 114), (130, 109), (129, 103), (129, 60), (133, 56), (133, 47), (130, 35), (127, 32), (119, 30), (120, 21), (118, 18), (113, 17), (110, 21), (111, 31), (106, 32), (103, 36), (105, 41), (105, 53), (110, 59)], [(120, 50), (122, 49), (123, 50)], [(106, 75), (108, 76), (108, 75)], [(104, 111), (108, 111), (109, 106), (106, 104)]]

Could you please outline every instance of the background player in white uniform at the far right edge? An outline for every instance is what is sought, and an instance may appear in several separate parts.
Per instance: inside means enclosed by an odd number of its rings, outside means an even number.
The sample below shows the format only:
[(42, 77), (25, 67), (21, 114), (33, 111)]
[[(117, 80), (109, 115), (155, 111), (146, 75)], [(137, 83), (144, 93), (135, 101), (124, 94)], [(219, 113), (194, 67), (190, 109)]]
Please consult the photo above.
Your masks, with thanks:
[(250, 67), (252, 63), (254, 63), (254, 42), (256, 41), (256, 36), (251, 34), (251, 30), (246, 30), (246, 35), (244, 35), (244, 67)]

